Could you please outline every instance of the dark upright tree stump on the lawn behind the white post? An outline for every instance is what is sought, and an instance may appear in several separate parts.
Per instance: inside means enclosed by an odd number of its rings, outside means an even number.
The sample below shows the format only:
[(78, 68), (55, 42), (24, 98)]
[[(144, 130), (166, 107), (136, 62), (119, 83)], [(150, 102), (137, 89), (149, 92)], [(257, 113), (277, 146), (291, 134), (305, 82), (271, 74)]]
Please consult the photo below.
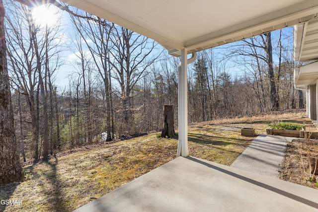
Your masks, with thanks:
[(163, 128), (162, 138), (171, 138), (174, 136), (174, 117), (173, 105), (163, 105)]

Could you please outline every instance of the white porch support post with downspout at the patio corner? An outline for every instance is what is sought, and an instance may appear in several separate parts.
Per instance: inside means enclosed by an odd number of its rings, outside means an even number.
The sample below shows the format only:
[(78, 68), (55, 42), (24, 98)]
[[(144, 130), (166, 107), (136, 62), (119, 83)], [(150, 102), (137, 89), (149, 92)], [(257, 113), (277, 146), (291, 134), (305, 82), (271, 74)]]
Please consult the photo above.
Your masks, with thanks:
[(181, 69), (178, 76), (178, 119), (181, 156), (189, 156), (188, 148), (188, 72), (187, 49), (181, 50)]

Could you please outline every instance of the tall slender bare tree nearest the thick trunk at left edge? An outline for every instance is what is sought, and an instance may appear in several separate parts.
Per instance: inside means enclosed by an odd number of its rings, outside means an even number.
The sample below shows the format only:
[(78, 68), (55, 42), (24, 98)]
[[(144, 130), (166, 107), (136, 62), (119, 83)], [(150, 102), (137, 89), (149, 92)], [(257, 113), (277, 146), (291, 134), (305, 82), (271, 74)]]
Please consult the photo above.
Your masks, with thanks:
[[(23, 6), (12, 4), (12, 12), (15, 12), (16, 18), (7, 18), (7, 43), (8, 56), (10, 59), (12, 83), (19, 88), (21, 93), (27, 96), (31, 125), (32, 125), (32, 149), (33, 158), (39, 157), (38, 143), (38, 120), (36, 117), (36, 90), (37, 90), (37, 72), (35, 71), (34, 58), (35, 53), (32, 50), (31, 35), (29, 33), (28, 23), (31, 21), (23, 20), (29, 11)], [(16, 76), (16, 77), (14, 77)]]

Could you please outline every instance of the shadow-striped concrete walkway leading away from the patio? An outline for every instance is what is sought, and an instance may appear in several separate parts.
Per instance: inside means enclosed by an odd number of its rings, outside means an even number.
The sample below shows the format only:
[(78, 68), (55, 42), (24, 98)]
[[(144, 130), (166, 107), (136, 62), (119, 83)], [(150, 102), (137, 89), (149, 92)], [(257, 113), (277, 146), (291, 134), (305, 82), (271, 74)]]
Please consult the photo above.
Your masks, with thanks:
[(259, 135), (232, 163), (232, 167), (279, 179), (290, 138)]

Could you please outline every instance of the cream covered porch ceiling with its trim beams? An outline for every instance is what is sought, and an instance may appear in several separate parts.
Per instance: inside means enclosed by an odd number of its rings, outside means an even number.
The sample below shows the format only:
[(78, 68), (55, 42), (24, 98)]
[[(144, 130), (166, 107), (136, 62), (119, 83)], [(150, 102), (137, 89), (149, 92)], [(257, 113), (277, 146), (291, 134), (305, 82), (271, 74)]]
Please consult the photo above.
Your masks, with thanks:
[(154, 39), (173, 56), (306, 22), (318, 0), (62, 0)]

